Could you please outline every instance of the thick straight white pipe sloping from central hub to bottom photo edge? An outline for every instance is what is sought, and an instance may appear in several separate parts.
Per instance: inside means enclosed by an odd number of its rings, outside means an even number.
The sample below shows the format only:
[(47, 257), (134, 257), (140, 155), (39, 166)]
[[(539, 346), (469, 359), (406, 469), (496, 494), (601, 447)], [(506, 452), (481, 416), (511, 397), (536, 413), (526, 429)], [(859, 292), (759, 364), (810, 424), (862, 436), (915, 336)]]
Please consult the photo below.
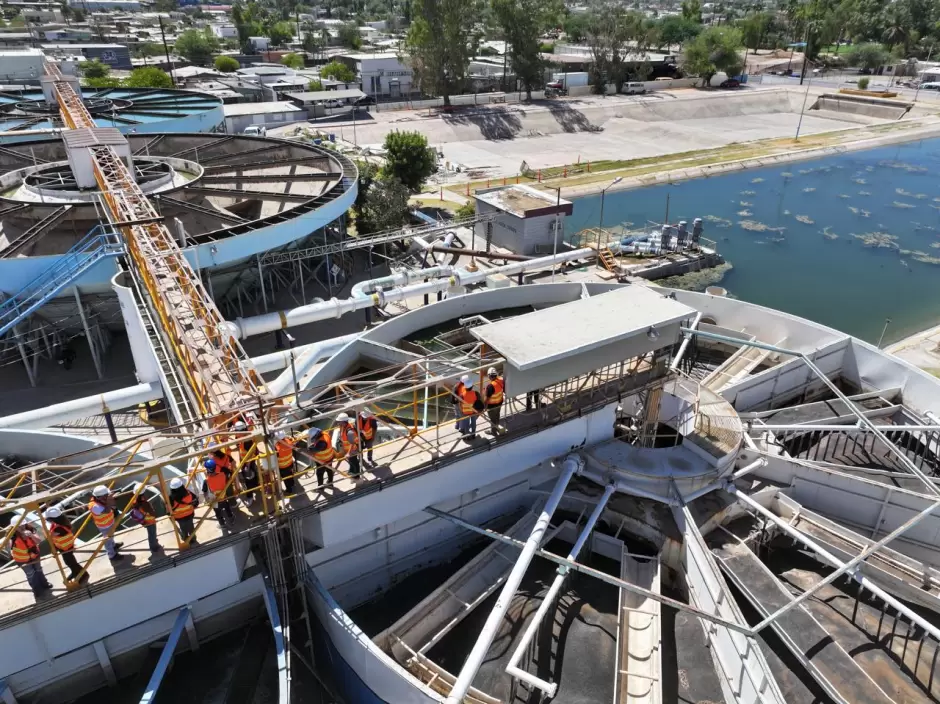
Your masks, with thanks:
[(496, 638), (496, 631), (499, 629), (499, 624), (506, 615), (506, 610), (509, 608), (512, 598), (519, 589), (519, 585), (522, 584), (522, 578), (529, 568), (529, 563), (532, 562), (532, 558), (535, 557), (535, 553), (541, 545), (542, 538), (545, 536), (545, 531), (548, 529), (549, 522), (552, 519), (552, 514), (555, 513), (555, 509), (558, 508), (558, 504), (561, 503), (561, 498), (565, 494), (568, 482), (571, 481), (575, 473), (583, 468), (584, 460), (580, 456), (568, 455), (568, 457), (565, 458), (565, 462), (561, 468), (561, 474), (558, 476), (558, 481), (555, 482), (555, 488), (545, 502), (542, 513), (539, 514), (538, 519), (535, 521), (535, 526), (532, 528), (529, 539), (526, 540), (522, 548), (519, 559), (516, 560), (516, 564), (513, 565), (509, 576), (506, 577), (506, 582), (503, 584), (503, 589), (500, 591), (499, 597), (493, 605), (493, 610), (490, 611), (490, 615), (487, 617), (486, 623), (483, 625), (483, 628), (480, 630), (480, 635), (477, 637), (477, 642), (473, 644), (473, 650), (470, 651), (470, 655), (467, 656), (466, 662), (464, 662), (463, 667), (460, 669), (460, 674), (457, 675), (457, 681), (454, 682), (454, 686), (451, 688), (450, 694), (445, 700), (445, 704), (461, 704), (461, 702), (463, 702), (464, 696), (466, 696), (470, 685), (473, 683), (473, 678), (476, 677), (477, 672), (480, 670), (480, 665), (483, 664), (483, 658), (486, 657), (486, 652), (490, 649), (493, 640)]

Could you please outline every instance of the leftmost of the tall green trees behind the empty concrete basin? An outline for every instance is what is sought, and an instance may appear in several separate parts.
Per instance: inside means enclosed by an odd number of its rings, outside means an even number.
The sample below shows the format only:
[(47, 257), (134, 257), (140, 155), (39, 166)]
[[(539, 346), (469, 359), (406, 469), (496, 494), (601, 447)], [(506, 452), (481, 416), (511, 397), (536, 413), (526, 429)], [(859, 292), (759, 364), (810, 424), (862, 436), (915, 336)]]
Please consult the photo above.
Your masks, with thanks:
[(425, 93), (444, 105), (466, 80), (470, 59), (480, 45), (479, 0), (414, 0), (405, 51)]

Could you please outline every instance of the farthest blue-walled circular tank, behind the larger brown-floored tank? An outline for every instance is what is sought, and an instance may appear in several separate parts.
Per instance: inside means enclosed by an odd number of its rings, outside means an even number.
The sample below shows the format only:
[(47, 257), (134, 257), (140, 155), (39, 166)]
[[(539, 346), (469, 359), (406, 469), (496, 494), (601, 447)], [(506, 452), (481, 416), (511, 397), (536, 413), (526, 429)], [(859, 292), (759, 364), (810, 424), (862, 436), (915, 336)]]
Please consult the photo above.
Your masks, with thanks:
[[(209, 132), (222, 124), (222, 101), (208, 93), (151, 88), (82, 88), (85, 107), (99, 127), (125, 134)], [(0, 92), (0, 144), (43, 139), (63, 128), (59, 106), (42, 91)]]

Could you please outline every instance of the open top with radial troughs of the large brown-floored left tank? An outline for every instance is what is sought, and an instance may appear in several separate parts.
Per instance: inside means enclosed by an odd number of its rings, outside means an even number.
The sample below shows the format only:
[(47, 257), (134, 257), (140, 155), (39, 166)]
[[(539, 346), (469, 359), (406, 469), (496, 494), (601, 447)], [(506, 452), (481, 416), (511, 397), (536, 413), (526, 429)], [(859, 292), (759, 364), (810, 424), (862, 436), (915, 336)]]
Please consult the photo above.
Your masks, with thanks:
[[(128, 141), (138, 184), (192, 244), (299, 217), (356, 175), (346, 158), (301, 142), (214, 134)], [(0, 258), (61, 254), (106, 222), (100, 192), (76, 184), (61, 140), (0, 148), (0, 173)]]

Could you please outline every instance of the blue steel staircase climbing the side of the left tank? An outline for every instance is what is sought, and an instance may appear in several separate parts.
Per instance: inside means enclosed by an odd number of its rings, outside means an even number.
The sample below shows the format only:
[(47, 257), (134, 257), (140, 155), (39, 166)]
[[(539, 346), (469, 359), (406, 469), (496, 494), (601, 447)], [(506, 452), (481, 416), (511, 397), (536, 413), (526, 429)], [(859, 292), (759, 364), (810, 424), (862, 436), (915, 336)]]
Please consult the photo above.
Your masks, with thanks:
[(121, 236), (97, 226), (65, 256), (0, 303), (0, 335), (28, 318), (102, 259), (124, 253)]

